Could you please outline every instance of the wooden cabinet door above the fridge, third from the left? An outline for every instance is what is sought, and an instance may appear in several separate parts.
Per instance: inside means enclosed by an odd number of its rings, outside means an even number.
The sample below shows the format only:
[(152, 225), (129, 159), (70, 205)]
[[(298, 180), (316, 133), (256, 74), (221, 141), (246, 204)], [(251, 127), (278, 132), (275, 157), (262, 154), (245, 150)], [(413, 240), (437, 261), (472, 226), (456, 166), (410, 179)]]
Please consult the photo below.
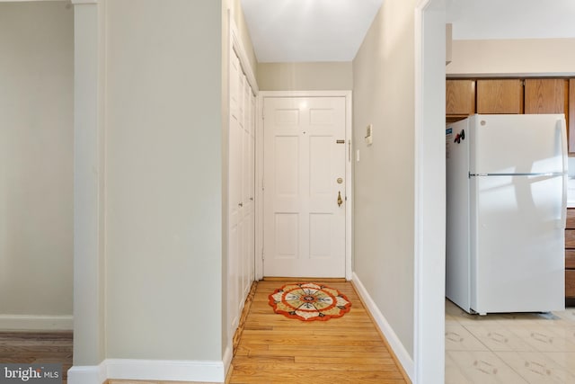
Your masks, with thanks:
[(569, 80), (563, 78), (529, 78), (525, 80), (526, 113), (568, 112)]

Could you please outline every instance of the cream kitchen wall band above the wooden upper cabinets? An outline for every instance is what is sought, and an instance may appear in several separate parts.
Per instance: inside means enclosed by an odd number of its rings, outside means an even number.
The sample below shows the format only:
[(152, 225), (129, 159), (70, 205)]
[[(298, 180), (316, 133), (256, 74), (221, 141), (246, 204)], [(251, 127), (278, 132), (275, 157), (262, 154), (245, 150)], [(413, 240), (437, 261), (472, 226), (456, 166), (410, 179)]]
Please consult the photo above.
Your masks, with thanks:
[(575, 39), (454, 40), (447, 76), (572, 76)]

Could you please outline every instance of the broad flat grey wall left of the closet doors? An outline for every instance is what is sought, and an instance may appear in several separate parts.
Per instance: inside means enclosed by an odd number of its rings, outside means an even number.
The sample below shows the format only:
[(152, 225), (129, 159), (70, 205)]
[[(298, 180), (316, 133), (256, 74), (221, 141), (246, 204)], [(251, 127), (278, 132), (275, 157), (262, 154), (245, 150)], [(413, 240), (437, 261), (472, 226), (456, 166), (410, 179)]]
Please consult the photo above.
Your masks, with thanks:
[(222, 359), (221, 6), (107, 3), (107, 358)]

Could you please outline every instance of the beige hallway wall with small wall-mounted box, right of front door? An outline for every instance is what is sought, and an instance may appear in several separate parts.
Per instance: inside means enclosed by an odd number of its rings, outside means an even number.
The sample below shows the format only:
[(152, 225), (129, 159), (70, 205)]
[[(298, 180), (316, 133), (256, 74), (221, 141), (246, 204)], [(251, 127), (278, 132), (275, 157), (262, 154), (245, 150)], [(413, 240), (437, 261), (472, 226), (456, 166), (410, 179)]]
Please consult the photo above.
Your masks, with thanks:
[(385, 1), (353, 60), (354, 271), (411, 358), (414, 8), (412, 0)]

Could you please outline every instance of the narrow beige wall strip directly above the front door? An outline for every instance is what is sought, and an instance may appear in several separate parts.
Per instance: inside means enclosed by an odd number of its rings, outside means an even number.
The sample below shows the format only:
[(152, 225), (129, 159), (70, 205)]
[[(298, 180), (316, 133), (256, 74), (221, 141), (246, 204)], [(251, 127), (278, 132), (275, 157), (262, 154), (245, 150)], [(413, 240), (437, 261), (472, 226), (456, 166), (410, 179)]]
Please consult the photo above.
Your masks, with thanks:
[(353, 88), (350, 62), (260, 63), (262, 91), (325, 91)]

